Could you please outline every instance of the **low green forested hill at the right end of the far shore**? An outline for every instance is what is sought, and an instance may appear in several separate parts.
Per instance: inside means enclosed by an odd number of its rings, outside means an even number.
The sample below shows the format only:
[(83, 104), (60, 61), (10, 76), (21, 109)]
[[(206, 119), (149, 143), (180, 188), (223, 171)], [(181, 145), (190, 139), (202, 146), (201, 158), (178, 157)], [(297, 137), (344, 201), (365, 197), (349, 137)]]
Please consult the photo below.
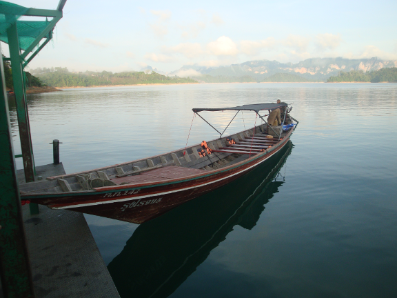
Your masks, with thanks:
[(397, 68), (382, 68), (372, 72), (362, 70), (339, 72), (336, 77), (330, 77), (327, 82), (397, 82)]

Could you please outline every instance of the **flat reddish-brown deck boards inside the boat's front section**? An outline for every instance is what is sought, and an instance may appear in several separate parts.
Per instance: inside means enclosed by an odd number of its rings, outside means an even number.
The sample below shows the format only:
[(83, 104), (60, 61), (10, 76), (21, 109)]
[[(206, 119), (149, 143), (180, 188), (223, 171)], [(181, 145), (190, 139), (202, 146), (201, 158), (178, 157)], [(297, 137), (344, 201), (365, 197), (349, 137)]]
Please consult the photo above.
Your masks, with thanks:
[(138, 183), (138, 182), (156, 182), (163, 180), (178, 179), (192, 175), (199, 175), (205, 170), (199, 170), (195, 168), (185, 168), (181, 166), (167, 166), (165, 168), (157, 168), (155, 170), (150, 170), (143, 172), (140, 175), (132, 175), (127, 177), (120, 177), (110, 179), (116, 184), (121, 183)]

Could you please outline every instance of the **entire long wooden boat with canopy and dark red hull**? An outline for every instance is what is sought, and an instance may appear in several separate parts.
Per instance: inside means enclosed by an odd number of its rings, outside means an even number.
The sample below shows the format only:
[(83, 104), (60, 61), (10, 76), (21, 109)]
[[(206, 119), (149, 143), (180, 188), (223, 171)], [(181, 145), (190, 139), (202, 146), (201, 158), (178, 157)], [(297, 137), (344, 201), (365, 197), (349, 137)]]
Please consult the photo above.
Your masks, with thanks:
[[(260, 113), (279, 108), (282, 125), (271, 126)], [(21, 185), (21, 199), (52, 209), (68, 209), (141, 224), (185, 201), (245, 175), (288, 142), (298, 121), (287, 103), (260, 103), (202, 111), (256, 112), (265, 123), (211, 141), (126, 163), (48, 177)], [(233, 119), (236, 117), (234, 115)], [(233, 119), (230, 121), (232, 123)], [(227, 125), (230, 126), (230, 123)]]

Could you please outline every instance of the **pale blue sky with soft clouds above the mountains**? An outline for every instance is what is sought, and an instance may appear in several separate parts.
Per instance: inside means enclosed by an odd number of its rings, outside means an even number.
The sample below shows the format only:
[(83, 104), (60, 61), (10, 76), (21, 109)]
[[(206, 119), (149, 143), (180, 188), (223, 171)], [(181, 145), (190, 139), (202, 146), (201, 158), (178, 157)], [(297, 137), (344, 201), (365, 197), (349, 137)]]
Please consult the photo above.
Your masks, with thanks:
[[(56, 9), (58, 0), (14, 0)], [(184, 65), (312, 57), (397, 60), (397, 1), (68, 0), (30, 62), (70, 71), (163, 72)], [(3, 53), (8, 51), (1, 45)]]

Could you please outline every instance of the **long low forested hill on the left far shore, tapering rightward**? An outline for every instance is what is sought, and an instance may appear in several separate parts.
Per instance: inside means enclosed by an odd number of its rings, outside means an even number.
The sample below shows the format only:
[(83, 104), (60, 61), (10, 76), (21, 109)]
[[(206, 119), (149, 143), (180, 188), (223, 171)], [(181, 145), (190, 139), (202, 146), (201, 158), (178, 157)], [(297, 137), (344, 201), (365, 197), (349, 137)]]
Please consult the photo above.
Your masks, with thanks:
[(68, 68), (37, 68), (32, 74), (52, 87), (89, 87), (147, 83), (197, 83), (194, 79), (166, 77), (156, 72), (69, 72)]

